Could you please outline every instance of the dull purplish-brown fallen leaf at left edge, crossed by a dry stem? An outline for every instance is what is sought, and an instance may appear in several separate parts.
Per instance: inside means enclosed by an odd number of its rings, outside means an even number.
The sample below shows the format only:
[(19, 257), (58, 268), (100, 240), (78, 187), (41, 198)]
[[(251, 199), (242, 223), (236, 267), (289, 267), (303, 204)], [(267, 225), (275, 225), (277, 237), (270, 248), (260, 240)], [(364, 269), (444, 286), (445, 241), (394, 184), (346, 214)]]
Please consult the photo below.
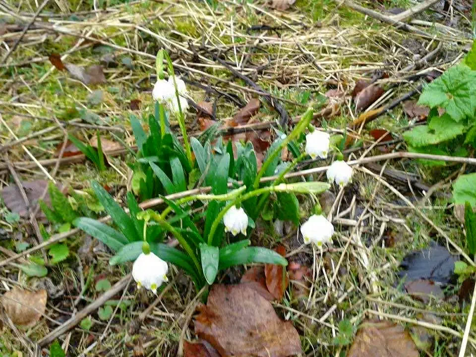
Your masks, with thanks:
[[(23, 181), (23, 189), (25, 190), (26, 197), (30, 201), (30, 206), (34, 207), (37, 201), (43, 195), (43, 192), (48, 187), (48, 181), (46, 180), (33, 180), (33, 181)], [(60, 187), (61, 189), (61, 187)], [(5, 186), (1, 191), (1, 197), (5, 206), (10, 210), (10, 212), (18, 213), (21, 217), (28, 217), (28, 207), (23, 200), (23, 197), (18, 189), (17, 185), (13, 184), (10, 186)], [(48, 192), (44, 198), (45, 203), (50, 205), (50, 195)], [(39, 212), (38, 215), (42, 216), (43, 212)]]

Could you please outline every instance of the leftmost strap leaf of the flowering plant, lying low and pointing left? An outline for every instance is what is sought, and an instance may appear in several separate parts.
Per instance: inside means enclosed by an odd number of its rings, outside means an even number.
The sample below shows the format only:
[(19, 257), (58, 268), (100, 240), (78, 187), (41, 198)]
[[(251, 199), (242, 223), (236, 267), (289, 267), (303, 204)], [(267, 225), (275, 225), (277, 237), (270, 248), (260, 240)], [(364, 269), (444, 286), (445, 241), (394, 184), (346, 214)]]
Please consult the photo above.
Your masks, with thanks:
[[(73, 221), (73, 225), (88, 235), (102, 241), (114, 251), (119, 251), (128, 243), (125, 236), (108, 225), (92, 218), (80, 217)], [(140, 242), (142, 244), (142, 242)]]

